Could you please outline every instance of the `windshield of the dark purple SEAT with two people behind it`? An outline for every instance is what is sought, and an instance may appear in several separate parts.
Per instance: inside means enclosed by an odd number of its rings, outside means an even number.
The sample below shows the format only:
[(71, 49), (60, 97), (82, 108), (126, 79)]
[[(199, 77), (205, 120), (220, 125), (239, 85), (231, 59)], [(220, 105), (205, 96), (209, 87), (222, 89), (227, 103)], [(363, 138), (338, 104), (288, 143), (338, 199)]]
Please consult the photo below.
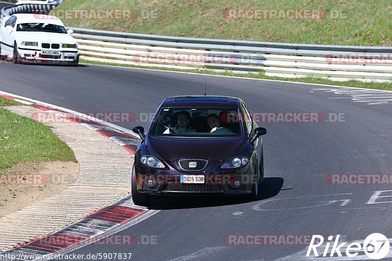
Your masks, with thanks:
[(162, 108), (150, 135), (210, 138), (238, 137), (242, 136), (242, 133), (237, 109)]

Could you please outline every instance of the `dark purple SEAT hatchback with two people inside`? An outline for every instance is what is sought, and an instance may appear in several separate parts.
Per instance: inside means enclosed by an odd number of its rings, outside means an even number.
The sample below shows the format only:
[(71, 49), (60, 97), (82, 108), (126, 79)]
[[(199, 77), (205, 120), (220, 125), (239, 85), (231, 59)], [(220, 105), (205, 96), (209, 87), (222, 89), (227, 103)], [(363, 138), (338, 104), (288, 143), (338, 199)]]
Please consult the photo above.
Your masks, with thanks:
[(248, 194), (253, 200), (264, 179), (263, 142), (241, 98), (175, 96), (161, 104), (145, 134), (132, 171), (132, 198), (151, 195)]

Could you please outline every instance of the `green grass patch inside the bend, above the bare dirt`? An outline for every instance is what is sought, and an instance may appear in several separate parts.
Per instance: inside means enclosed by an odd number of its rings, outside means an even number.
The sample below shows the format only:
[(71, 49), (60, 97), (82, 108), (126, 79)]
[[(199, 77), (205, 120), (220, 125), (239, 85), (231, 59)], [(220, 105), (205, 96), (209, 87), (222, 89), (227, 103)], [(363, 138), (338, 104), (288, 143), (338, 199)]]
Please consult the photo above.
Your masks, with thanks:
[[(4, 101), (0, 99), (0, 105)], [(73, 151), (49, 127), (0, 108), (0, 174), (20, 162), (76, 162)]]

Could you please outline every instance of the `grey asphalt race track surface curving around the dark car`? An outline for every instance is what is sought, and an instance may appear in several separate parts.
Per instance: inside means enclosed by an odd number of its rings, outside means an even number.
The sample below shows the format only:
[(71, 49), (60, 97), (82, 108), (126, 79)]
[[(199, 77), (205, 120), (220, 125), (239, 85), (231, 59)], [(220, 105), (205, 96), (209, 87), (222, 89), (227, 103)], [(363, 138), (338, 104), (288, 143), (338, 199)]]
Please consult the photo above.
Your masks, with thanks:
[[(324, 119), (259, 123), (268, 134), (263, 136), (266, 179), (257, 201), (153, 198), (152, 208), (162, 211), (117, 235), (152, 236), (156, 244), (92, 244), (72, 253), (132, 253), (131, 260), (314, 260), (305, 257), (307, 245), (300, 242), (233, 245), (226, 239), (342, 235), (347, 242), (360, 242), (372, 233), (392, 237), (392, 197), (371, 200), (375, 191), (392, 190), (391, 184), (326, 181), (328, 174), (392, 174), (391, 93), (331, 92), (289, 82), (93, 65), (0, 65), (1, 91), (84, 113), (130, 112), (142, 121), (115, 123), (126, 128), (147, 128), (149, 122), (139, 115), (154, 113), (167, 96), (204, 94), (206, 78), (208, 95), (240, 96), (252, 113), (322, 113)], [(335, 114), (344, 119), (334, 121)], [(330, 117), (333, 122), (325, 122)], [(347, 260), (325, 260), (335, 259)]]

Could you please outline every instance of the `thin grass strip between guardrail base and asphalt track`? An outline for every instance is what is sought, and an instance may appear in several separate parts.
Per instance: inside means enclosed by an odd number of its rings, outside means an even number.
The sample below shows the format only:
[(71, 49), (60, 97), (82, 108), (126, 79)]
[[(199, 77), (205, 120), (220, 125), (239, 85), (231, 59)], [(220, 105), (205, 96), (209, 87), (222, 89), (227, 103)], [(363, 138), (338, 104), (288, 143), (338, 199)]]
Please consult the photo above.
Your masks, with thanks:
[(161, 67), (149, 67), (149, 66), (136, 66), (136, 65), (122, 65), (115, 63), (105, 63), (97, 61), (86, 61), (81, 59), (80, 62), (88, 64), (98, 64), (98, 65), (110, 65), (110, 66), (120, 66), (120, 67), (131, 67), (131, 68), (145, 68), (145, 69), (155, 69), (163, 71), (184, 71), (184, 72), (194, 72), (194, 73), (204, 73), (211, 75), (225, 75), (225, 76), (237, 76), (237, 77), (247, 77), (255, 79), (267, 79), (267, 80), (281, 80), (288, 82), (303, 82), (303, 83), (316, 83), (316, 84), (327, 84), (327, 85), (337, 85), (342, 87), (356, 87), (356, 88), (368, 88), (377, 90), (392, 91), (392, 84), (387, 82), (365, 82), (358, 80), (347, 80), (347, 81), (332, 81), (325, 78), (319, 77), (302, 77), (302, 78), (286, 78), (286, 77), (272, 77), (266, 76), (264, 73), (233, 73), (231, 71), (216, 72), (210, 70), (184, 70), (184, 69), (174, 69), (174, 68), (161, 68)]

